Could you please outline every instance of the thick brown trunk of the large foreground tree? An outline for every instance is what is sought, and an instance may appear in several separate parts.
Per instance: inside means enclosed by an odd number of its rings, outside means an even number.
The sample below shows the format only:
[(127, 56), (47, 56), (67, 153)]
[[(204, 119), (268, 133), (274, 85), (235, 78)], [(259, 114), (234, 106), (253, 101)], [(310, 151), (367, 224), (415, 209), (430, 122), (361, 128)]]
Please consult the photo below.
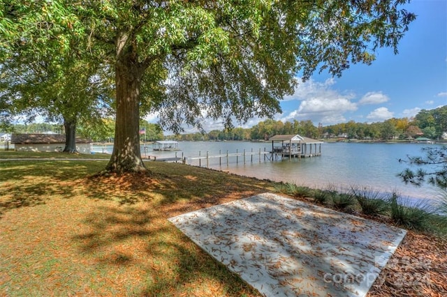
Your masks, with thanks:
[(140, 152), (140, 85), (142, 69), (132, 54), (123, 54), (115, 65), (116, 121), (109, 172), (142, 172), (146, 167)]

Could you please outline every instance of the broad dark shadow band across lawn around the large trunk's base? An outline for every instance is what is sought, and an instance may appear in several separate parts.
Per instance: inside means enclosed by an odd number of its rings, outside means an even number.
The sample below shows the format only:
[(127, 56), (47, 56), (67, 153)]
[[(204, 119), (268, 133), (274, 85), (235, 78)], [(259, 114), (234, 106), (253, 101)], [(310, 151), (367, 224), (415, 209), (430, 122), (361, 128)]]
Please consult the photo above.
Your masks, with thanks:
[[(240, 176), (175, 163), (149, 162), (147, 174), (98, 175), (106, 161), (14, 161), (0, 164), (0, 215), (60, 197), (175, 204), (219, 202), (230, 192), (264, 192), (268, 182), (242, 182)], [(234, 197), (237, 199), (239, 197)]]

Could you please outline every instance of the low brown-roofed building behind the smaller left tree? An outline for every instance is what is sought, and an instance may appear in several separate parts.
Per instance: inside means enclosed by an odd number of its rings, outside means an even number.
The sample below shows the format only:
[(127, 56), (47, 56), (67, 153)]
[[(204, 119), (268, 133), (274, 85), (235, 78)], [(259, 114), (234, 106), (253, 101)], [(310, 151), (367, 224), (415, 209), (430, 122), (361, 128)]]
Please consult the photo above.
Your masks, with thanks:
[[(15, 151), (59, 152), (65, 147), (65, 135), (60, 134), (13, 134), (11, 144)], [(76, 150), (91, 153), (91, 140), (76, 137)]]

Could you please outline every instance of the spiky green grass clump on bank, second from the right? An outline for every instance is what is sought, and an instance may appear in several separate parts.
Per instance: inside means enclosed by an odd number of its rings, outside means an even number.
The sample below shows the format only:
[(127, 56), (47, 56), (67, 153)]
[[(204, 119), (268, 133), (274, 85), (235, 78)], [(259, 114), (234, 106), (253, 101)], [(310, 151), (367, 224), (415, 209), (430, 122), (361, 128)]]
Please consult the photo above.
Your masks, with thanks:
[(384, 200), (385, 197), (378, 190), (351, 187), (351, 195), (357, 200), (365, 215), (383, 215), (390, 208), (390, 204)]

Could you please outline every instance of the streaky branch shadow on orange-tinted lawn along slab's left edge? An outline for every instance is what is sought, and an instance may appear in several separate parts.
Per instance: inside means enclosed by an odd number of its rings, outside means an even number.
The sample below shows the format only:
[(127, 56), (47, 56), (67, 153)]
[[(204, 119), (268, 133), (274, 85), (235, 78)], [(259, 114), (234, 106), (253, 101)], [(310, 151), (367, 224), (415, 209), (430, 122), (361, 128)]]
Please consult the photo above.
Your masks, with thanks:
[[(126, 295), (189, 295), (200, 286), (202, 293), (210, 290), (207, 296), (213, 287), (218, 294), (257, 295), (170, 224), (163, 207), (101, 206), (82, 223), (89, 231), (71, 238), (73, 245), (92, 271), (103, 271), (108, 279), (126, 278)], [(131, 281), (135, 276), (138, 282)]]

